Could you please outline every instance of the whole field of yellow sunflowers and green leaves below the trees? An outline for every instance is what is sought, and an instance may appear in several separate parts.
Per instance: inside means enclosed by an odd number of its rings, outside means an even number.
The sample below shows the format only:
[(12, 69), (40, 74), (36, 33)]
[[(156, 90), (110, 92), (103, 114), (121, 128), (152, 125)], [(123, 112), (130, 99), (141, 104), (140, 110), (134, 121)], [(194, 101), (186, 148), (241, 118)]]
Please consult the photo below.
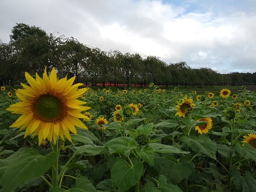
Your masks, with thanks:
[(25, 74), (0, 91), (0, 191), (256, 191), (256, 95), (82, 88)]

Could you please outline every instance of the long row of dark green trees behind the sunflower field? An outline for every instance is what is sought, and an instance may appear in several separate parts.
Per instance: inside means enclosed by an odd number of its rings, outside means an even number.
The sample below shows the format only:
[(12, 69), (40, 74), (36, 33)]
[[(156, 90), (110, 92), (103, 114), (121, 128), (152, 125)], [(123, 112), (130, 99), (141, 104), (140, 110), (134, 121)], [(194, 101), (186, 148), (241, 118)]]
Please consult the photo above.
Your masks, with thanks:
[[(58, 36), (57, 36), (58, 35)], [(24, 73), (42, 75), (55, 67), (58, 76), (76, 82), (119, 82), (158, 85), (256, 84), (256, 73), (220, 74), (210, 68), (190, 68), (185, 61), (165, 63), (155, 56), (101, 51), (73, 37), (47, 34), (39, 27), (17, 23), (9, 43), (0, 41), (0, 85), (15, 84)]]

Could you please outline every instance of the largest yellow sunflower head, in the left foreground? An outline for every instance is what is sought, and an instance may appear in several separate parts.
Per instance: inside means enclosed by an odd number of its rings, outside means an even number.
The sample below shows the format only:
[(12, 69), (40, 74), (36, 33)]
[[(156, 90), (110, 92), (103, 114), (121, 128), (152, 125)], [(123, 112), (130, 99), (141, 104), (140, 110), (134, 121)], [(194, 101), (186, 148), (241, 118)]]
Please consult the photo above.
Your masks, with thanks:
[(16, 90), (20, 102), (6, 109), (22, 114), (10, 127), (20, 128), (20, 131), (26, 128), (24, 137), (32, 133), (33, 138), (38, 135), (39, 145), (45, 139), (56, 143), (58, 136), (71, 141), (69, 131), (76, 134), (76, 126), (87, 129), (79, 118), (85, 118), (81, 111), (90, 107), (82, 106), (86, 102), (77, 99), (87, 88), (77, 89), (82, 83), (72, 85), (75, 77), (58, 80), (55, 68), (50, 77), (46, 68), (43, 78), (36, 74), (34, 79), (28, 73), (25, 77), (30, 86), (21, 83), (24, 89)]

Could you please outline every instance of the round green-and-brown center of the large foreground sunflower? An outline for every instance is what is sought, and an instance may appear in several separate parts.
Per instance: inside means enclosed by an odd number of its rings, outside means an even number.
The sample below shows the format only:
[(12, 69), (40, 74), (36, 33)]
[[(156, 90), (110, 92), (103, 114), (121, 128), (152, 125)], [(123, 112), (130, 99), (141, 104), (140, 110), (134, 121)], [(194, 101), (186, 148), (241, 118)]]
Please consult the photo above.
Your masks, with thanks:
[(58, 95), (43, 94), (33, 104), (34, 117), (44, 122), (59, 122), (66, 115), (66, 102)]

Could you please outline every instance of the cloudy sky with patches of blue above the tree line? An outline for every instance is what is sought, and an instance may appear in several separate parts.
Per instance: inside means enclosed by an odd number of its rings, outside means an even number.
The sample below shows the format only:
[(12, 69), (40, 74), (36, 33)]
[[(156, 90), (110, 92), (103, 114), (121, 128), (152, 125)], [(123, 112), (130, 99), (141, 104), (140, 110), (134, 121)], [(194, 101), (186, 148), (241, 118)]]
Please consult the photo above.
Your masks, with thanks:
[(221, 74), (256, 72), (256, 0), (1, 0), (3, 43), (16, 23), (102, 51)]

